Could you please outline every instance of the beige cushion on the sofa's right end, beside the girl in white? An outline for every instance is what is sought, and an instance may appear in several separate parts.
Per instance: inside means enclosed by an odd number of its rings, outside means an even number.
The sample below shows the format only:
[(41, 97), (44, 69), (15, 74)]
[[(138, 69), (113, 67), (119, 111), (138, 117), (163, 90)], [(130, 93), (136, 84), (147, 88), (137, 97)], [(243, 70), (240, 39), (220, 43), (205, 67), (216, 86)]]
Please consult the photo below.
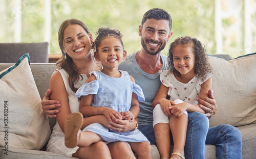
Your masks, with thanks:
[(214, 69), (212, 90), (218, 105), (210, 127), (256, 123), (256, 53), (232, 60), (209, 57)]

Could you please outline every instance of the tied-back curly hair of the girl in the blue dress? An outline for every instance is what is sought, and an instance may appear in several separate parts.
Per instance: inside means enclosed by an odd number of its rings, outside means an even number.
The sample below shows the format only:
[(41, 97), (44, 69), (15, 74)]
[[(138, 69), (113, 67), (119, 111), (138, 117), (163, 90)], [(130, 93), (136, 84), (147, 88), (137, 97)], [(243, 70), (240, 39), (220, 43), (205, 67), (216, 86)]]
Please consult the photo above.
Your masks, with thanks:
[(97, 35), (97, 37), (92, 44), (92, 48), (94, 49), (95, 52), (98, 52), (100, 42), (104, 38), (110, 37), (110, 36), (114, 36), (114, 37), (118, 38), (124, 48), (123, 41), (122, 41), (122, 34), (118, 29), (111, 30), (109, 28), (98, 28), (96, 35)]

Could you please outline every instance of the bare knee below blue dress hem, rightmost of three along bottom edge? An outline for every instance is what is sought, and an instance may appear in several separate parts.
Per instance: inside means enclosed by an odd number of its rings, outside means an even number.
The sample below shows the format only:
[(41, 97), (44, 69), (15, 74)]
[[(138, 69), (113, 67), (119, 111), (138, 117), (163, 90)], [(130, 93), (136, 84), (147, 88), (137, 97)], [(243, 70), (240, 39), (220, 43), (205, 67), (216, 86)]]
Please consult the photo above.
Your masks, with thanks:
[(152, 149), (149, 142), (129, 142), (132, 149), (138, 154), (138, 159), (147, 158), (152, 159)]

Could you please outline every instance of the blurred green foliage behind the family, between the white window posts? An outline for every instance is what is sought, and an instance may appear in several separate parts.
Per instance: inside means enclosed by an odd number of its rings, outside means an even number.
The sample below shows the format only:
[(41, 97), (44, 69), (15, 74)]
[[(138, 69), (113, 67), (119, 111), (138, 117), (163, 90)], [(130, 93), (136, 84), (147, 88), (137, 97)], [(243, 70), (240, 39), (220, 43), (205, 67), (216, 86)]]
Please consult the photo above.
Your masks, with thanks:
[[(119, 29), (123, 34), (123, 42), (127, 54), (140, 49), (138, 26), (141, 24), (143, 14), (152, 8), (163, 8), (173, 18), (173, 36), (170, 42), (180, 36), (197, 37), (208, 46), (210, 52), (214, 47), (214, 0), (211, 1), (136, 1), (136, 0), (110, 0), (110, 1), (52, 1), (53, 26), (58, 30), (65, 19), (77, 18), (88, 25), (94, 35), (101, 26)], [(54, 33), (54, 32), (53, 32)], [(205, 38), (204, 38), (205, 37)], [(51, 48), (58, 50), (57, 36), (52, 35)], [(56, 42), (54, 42), (56, 41)], [(169, 43), (170, 43), (169, 42)], [(168, 47), (163, 51), (167, 55)]]

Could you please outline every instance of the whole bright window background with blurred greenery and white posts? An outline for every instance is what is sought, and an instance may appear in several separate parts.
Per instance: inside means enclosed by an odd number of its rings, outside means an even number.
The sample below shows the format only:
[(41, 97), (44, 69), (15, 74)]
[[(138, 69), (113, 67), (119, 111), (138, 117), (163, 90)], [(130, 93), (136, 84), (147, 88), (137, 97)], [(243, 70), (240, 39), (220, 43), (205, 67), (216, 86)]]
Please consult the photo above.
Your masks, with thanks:
[[(173, 36), (198, 38), (209, 54), (232, 58), (256, 52), (254, 0), (0, 0), (0, 42), (49, 42), (49, 54), (61, 54), (57, 32), (62, 21), (77, 18), (93, 37), (98, 27), (119, 29), (127, 54), (140, 49), (138, 26), (151, 8), (165, 9), (173, 18)], [(162, 51), (167, 55), (168, 47)]]

